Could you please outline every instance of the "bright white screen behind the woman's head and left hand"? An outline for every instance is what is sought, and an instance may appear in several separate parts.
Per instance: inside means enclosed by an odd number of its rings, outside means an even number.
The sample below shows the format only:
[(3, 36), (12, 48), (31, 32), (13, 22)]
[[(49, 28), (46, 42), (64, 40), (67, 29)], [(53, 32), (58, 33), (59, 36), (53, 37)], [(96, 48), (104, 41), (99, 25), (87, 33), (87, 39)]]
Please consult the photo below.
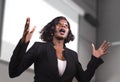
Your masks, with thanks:
[(29, 44), (30, 47), (35, 41), (41, 41), (39, 39), (40, 30), (57, 16), (65, 16), (70, 22), (75, 40), (67, 44), (67, 46), (77, 51), (78, 25), (67, 15), (53, 8), (44, 0), (6, 0), (2, 31), (1, 59), (5, 61), (10, 60), (15, 46), (22, 37), (27, 17), (31, 18), (30, 28), (36, 26), (35, 33)]

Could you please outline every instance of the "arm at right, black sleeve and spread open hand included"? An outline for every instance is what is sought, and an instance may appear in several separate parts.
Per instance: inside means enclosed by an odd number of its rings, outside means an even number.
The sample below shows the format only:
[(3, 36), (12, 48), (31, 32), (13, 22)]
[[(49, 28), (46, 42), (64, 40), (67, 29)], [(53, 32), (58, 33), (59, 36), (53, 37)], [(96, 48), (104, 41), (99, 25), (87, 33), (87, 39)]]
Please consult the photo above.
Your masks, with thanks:
[[(77, 74), (76, 78), (80, 82), (90, 82), (93, 77), (95, 70), (99, 67), (100, 64), (103, 63), (101, 56), (107, 54), (107, 49), (110, 46), (110, 42), (104, 41), (101, 46), (96, 50), (94, 44), (92, 44), (92, 56), (91, 60), (87, 65), (87, 69), (84, 71), (79, 61), (77, 61)], [(78, 57), (77, 57), (78, 59)]]

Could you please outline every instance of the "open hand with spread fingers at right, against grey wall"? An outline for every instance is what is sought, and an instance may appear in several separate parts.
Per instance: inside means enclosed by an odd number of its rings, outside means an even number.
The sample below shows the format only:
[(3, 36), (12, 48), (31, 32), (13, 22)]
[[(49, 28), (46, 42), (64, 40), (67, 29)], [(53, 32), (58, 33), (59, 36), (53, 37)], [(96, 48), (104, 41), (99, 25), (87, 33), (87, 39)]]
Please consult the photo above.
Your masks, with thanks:
[(108, 48), (110, 47), (110, 42), (104, 41), (100, 47), (96, 50), (94, 44), (92, 43), (92, 54), (93, 56), (99, 58), (108, 53)]

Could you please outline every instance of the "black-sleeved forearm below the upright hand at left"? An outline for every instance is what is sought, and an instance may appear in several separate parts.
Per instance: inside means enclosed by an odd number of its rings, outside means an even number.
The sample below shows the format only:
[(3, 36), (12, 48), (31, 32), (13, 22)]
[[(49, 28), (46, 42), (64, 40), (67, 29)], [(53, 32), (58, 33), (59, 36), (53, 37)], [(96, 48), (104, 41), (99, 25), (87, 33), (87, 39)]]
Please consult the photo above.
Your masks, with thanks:
[[(29, 43), (23, 43), (21, 40), (13, 51), (13, 55), (11, 57), (9, 63), (9, 76), (11, 78), (20, 75), (23, 70), (22, 61), (25, 60), (25, 52)], [(21, 64), (21, 65), (20, 65)]]

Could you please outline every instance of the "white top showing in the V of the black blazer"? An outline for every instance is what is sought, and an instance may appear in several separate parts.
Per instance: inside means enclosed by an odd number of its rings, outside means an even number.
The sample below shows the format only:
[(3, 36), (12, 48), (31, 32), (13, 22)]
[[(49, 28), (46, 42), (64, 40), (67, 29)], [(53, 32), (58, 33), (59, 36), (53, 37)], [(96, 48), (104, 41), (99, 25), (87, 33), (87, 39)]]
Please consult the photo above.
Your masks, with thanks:
[(57, 60), (58, 60), (59, 75), (62, 76), (64, 71), (65, 71), (67, 61), (66, 60), (60, 60), (60, 59), (57, 59)]

